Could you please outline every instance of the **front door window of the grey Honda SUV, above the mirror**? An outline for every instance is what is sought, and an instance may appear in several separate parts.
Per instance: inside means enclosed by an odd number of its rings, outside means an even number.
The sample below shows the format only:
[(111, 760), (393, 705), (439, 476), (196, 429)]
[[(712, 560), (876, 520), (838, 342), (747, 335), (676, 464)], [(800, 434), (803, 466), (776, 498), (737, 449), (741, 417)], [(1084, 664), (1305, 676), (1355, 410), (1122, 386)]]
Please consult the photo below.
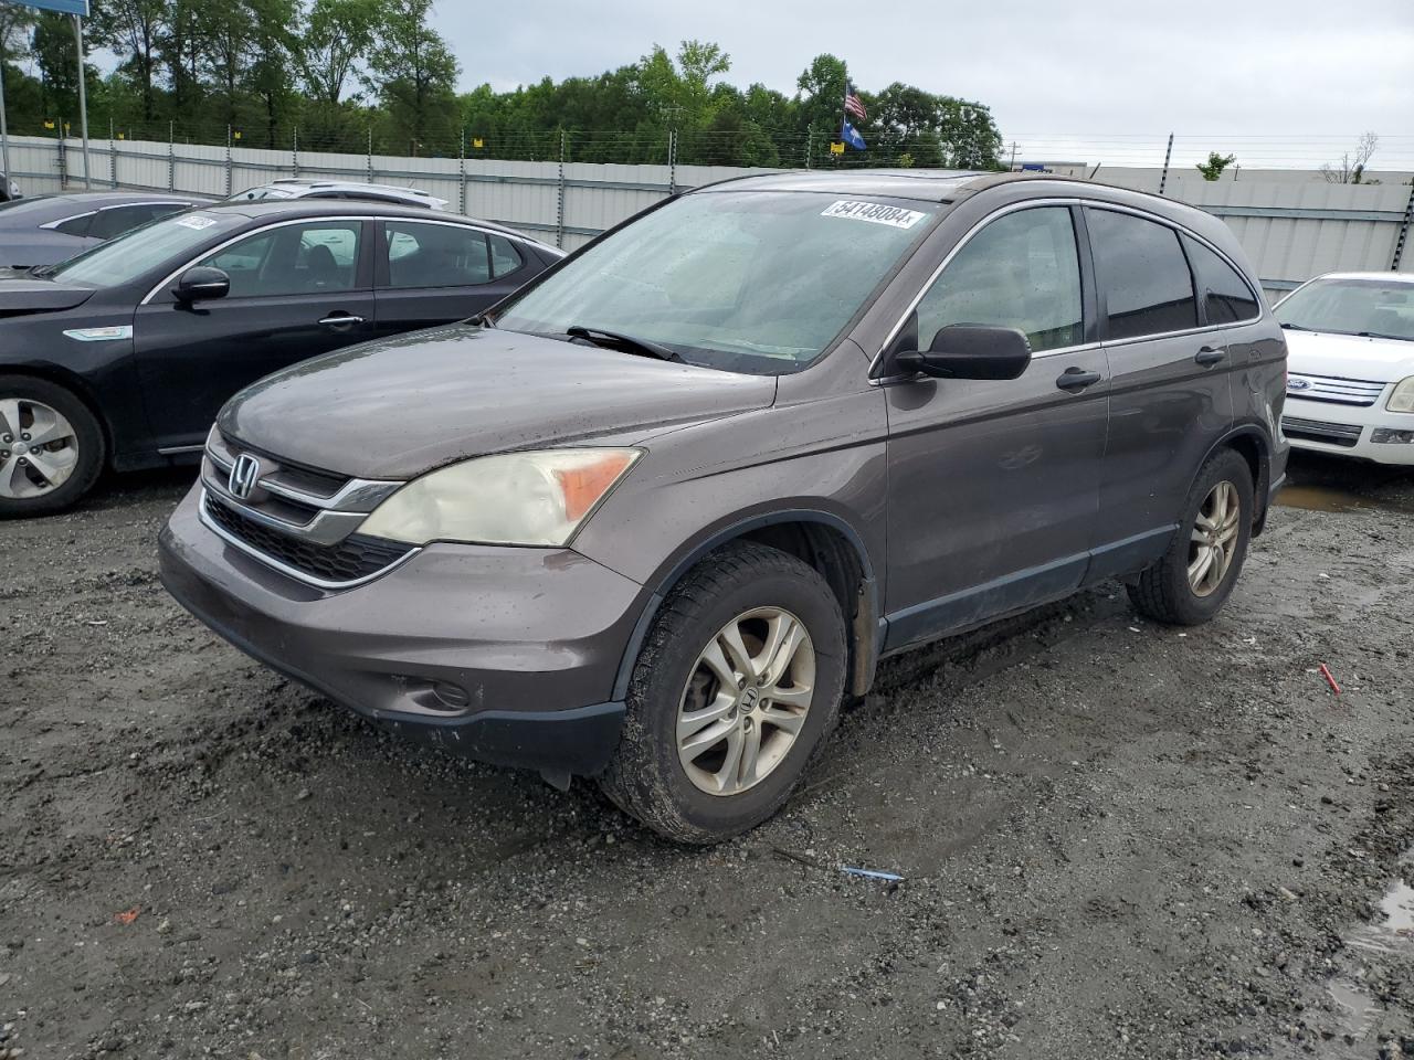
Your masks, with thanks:
[(919, 302), (919, 343), (926, 348), (952, 324), (1018, 328), (1036, 353), (1080, 345), (1080, 261), (1070, 211), (1021, 209), (974, 235)]

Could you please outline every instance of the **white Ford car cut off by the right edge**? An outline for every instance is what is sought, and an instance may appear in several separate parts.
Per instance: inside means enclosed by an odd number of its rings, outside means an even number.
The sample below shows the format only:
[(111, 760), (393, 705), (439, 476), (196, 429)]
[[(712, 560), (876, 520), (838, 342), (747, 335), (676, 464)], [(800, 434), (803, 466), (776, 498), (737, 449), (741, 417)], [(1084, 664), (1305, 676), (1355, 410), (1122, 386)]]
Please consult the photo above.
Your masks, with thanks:
[(1298, 449), (1414, 465), (1414, 274), (1328, 273), (1275, 308)]

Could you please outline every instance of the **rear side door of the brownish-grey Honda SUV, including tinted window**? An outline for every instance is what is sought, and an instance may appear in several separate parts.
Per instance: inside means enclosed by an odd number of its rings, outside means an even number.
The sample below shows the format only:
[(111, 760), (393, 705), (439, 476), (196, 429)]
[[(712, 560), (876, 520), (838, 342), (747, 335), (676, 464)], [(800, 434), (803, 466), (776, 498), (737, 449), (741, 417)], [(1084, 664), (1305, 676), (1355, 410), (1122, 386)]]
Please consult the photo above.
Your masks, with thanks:
[(1085, 219), (1113, 379), (1089, 577), (1097, 581), (1140, 570), (1168, 546), (1199, 465), (1232, 428), (1232, 373), (1246, 352), (1205, 322), (1225, 300), (1213, 293), (1212, 310), (1199, 301), (1189, 247), (1202, 245), (1145, 213), (1086, 206)]

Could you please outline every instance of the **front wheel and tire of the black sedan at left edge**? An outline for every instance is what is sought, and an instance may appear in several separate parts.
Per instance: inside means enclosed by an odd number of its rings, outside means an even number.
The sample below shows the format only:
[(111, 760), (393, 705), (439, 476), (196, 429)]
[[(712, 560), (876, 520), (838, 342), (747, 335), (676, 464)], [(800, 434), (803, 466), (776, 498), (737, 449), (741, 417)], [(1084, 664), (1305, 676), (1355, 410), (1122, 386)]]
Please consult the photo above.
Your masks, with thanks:
[[(18, 423), (10, 423), (11, 418)], [(51, 475), (57, 471), (65, 475), (58, 485), (48, 486), (41, 485), (48, 479), (34, 465), (27, 469), (20, 464), (28, 464), (31, 455), (18, 452), (28, 445), (27, 428), (47, 424), (62, 437), (44, 447), (44, 466)], [(72, 391), (47, 379), (0, 375), (0, 519), (69, 507), (98, 482), (106, 449), (98, 418)]]

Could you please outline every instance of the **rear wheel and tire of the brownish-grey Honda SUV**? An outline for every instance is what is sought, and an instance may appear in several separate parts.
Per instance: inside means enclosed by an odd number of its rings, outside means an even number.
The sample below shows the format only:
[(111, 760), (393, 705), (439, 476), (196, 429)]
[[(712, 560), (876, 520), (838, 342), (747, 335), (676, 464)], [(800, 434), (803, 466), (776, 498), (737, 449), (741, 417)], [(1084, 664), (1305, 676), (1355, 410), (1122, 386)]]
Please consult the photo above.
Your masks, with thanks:
[[(1206, 524), (1199, 526), (1200, 519), (1212, 522), (1208, 514), (1215, 510), (1215, 503), (1220, 503), (1219, 490), (1226, 493), (1225, 510), (1229, 514), (1223, 522), (1232, 534), (1219, 546), (1226, 561), (1213, 551), (1209, 541), (1219, 540), (1227, 531), (1223, 527), (1213, 531)], [(1234, 505), (1236, 513), (1232, 512)], [(1198, 472), (1172, 544), (1158, 563), (1128, 587), (1130, 601), (1140, 613), (1171, 626), (1199, 626), (1212, 619), (1232, 595), (1241, 574), (1254, 514), (1251, 468), (1247, 461), (1233, 449), (1213, 454)], [(1196, 534), (1215, 537), (1198, 541)], [(1198, 567), (1202, 575), (1195, 585), (1189, 564), (1199, 563), (1205, 548), (1209, 551), (1209, 564)]]

